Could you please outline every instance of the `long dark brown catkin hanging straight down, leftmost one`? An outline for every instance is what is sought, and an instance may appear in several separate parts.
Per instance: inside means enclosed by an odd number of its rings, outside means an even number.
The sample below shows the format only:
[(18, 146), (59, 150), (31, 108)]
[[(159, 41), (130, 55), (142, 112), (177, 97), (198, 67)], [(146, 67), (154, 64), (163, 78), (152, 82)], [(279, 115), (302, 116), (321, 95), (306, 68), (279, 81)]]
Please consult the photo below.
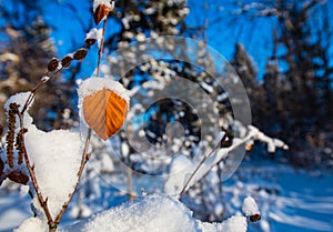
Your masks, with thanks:
[(7, 143), (7, 161), (8, 165), (13, 168), (13, 144), (14, 144), (14, 130), (16, 130), (16, 114), (18, 112), (19, 105), (17, 103), (9, 104), (8, 111), (8, 133), (6, 137)]

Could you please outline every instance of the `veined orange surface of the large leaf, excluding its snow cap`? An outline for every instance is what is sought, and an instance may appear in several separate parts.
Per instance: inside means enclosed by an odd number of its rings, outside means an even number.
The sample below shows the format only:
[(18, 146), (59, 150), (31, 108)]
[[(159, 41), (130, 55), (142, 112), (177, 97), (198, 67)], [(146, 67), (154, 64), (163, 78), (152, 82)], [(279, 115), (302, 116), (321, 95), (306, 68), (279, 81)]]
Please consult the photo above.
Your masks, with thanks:
[(83, 100), (84, 120), (103, 140), (121, 129), (127, 111), (127, 101), (105, 88)]

